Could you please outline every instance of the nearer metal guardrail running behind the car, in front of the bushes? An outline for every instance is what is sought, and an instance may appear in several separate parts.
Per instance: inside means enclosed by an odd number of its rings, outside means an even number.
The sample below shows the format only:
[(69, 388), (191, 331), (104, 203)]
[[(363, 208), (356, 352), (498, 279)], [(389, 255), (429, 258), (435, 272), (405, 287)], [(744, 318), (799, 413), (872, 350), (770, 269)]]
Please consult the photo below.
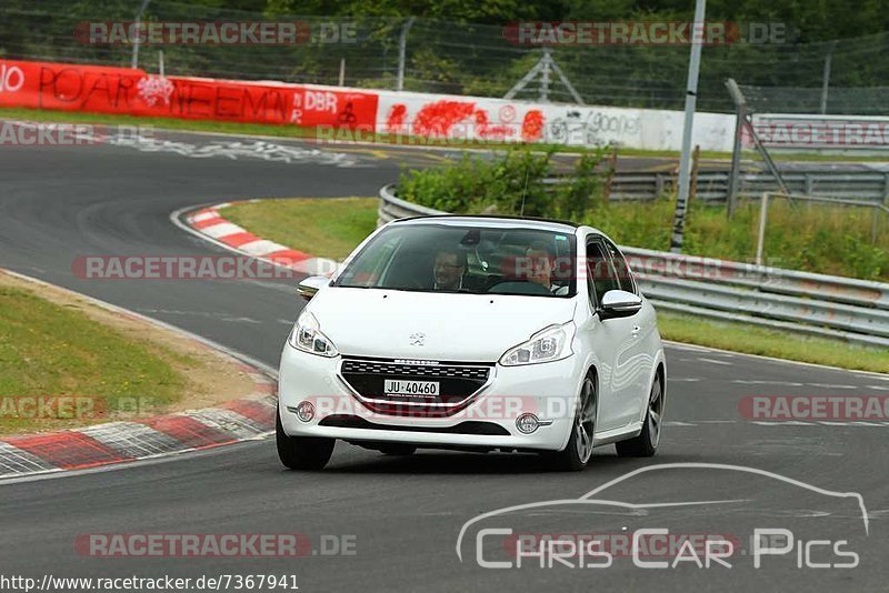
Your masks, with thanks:
[[(378, 225), (447, 214), (380, 190)], [(621, 247), (659, 309), (889, 348), (889, 284)]]

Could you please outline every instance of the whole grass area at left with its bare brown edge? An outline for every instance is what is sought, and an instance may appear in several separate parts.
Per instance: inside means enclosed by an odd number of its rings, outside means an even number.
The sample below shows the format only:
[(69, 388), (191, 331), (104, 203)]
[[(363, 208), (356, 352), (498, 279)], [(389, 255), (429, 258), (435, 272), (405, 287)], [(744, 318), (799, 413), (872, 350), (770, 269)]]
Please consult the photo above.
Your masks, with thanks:
[(0, 434), (203, 408), (253, 389), (240, 365), (191, 339), (0, 270)]

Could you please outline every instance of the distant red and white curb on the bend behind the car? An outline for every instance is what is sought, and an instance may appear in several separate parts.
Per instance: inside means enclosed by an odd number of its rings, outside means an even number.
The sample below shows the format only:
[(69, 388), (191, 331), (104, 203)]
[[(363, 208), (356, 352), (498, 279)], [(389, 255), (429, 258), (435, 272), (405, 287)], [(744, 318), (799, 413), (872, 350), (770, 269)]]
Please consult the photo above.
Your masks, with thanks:
[[(304, 274), (331, 274), (339, 265), (334, 260), (316, 258), (309, 253), (262, 239), (250, 231), (226, 220), (219, 210), (231, 202), (203, 208), (184, 217), (188, 230), (218, 245), (243, 255), (257, 258)], [(173, 219), (176, 221), (176, 218)]]

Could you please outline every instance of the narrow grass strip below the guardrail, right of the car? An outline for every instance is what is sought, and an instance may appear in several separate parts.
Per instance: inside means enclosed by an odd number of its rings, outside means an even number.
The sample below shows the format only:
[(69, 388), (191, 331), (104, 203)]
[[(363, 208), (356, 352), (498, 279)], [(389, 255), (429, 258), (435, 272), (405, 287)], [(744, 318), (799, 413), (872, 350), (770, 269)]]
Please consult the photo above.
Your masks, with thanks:
[(665, 340), (828, 366), (889, 373), (889, 350), (808, 338), (745, 323), (658, 313)]

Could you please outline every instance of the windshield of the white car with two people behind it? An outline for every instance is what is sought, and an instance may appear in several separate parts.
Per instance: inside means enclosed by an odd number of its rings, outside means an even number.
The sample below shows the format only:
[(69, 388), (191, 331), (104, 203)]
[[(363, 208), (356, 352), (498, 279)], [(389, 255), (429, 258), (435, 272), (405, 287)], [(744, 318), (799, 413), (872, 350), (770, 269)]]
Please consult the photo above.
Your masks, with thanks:
[(571, 233), (396, 224), (364, 245), (334, 285), (570, 298), (576, 294), (575, 252)]

